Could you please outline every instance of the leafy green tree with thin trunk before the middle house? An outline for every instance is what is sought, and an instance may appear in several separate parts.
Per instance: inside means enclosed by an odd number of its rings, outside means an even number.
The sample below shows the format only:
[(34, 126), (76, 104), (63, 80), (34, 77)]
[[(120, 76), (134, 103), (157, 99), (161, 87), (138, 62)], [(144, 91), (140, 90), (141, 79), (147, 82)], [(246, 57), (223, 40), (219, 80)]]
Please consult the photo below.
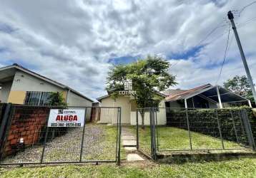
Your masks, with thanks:
[[(127, 65), (118, 65), (110, 68), (107, 77), (107, 91), (112, 98), (117, 98), (118, 91), (124, 90), (124, 83), (132, 80), (132, 95), (138, 108), (157, 107), (163, 99), (157, 92), (176, 85), (175, 76), (169, 74), (169, 62), (157, 56), (147, 56)], [(142, 115), (142, 128), (144, 128), (144, 110)]]

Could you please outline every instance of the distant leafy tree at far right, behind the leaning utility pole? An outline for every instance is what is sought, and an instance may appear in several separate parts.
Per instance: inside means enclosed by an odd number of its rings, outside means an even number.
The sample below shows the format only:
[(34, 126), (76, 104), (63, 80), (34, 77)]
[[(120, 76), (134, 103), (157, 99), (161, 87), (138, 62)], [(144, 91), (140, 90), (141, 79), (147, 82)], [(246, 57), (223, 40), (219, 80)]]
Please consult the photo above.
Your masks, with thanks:
[(231, 90), (237, 95), (241, 95), (254, 103), (252, 89), (250, 88), (250, 83), (245, 75), (235, 75), (234, 78), (228, 79), (227, 82), (223, 83), (223, 86), (224, 88), (227, 88), (228, 90)]

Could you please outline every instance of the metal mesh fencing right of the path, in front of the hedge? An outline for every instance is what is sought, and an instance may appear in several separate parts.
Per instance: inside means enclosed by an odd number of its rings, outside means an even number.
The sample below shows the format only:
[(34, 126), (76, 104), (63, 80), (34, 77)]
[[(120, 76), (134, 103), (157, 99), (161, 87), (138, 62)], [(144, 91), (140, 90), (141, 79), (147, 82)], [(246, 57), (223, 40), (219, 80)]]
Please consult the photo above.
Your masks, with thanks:
[(137, 148), (156, 159), (160, 152), (255, 150), (255, 139), (246, 110), (143, 108)]

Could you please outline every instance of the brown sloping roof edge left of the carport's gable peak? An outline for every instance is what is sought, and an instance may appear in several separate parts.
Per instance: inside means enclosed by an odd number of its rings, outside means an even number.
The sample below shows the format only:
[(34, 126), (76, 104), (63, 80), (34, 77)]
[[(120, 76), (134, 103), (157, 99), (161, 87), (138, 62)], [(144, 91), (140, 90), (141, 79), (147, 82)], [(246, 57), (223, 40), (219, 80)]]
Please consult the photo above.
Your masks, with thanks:
[(189, 89), (189, 90), (181, 91), (181, 92), (176, 93), (174, 95), (169, 95), (167, 98), (165, 98), (165, 100), (167, 100), (167, 101), (180, 100), (180, 99), (185, 98), (187, 95), (191, 95), (193, 93), (197, 93), (200, 90), (203, 90), (205, 88), (210, 88), (210, 87), (212, 87), (212, 85), (210, 83), (207, 83), (206, 85), (201, 85), (201, 86), (196, 87), (196, 88), (192, 88), (192, 89)]

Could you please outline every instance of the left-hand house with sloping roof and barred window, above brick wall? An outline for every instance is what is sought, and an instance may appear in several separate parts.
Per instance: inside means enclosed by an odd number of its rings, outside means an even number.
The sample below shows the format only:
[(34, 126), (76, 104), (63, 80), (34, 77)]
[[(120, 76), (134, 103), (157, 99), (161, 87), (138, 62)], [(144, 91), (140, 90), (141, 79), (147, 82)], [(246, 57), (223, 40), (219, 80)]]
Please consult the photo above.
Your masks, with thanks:
[(59, 92), (69, 106), (92, 106), (93, 100), (76, 90), (34, 73), (18, 64), (0, 68), (1, 103), (47, 105), (51, 92)]

